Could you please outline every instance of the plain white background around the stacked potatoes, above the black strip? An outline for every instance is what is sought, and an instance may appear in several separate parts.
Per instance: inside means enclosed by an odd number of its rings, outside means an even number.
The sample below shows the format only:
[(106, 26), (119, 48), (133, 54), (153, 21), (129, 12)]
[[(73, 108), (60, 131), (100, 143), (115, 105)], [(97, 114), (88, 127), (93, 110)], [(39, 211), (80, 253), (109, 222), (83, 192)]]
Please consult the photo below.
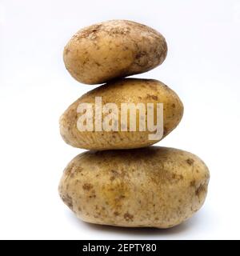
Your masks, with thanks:
[[(162, 66), (137, 76), (165, 82), (185, 106), (158, 145), (198, 154), (210, 169), (205, 205), (170, 230), (86, 224), (58, 197), (62, 170), (82, 152), (62, 141), (58, 118), (95, 87), (70, 77), (63, 47), (83, 26), (118, 18), (168, 43)], [(0, 33), (0, 238), (240, 238), (238, 0), (1, 0)]]

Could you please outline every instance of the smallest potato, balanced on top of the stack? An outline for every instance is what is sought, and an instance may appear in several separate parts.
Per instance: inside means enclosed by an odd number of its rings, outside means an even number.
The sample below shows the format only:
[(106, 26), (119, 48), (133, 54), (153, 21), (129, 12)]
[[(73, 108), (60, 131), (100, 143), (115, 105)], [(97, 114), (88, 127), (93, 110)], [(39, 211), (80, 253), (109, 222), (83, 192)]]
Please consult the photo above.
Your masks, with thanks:
[(63, 59), (79, 82), (98, 84), (151, 70), (166, 52), (166, 41), (156, 30), (112, 20), (79, 30), (64, 48)]

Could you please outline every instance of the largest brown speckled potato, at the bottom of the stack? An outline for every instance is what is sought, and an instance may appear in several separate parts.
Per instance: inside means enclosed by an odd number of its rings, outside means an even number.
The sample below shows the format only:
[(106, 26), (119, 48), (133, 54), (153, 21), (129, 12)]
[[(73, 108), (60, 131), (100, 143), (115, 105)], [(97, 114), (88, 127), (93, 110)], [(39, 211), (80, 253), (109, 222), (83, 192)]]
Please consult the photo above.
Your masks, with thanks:
[(169, 228), (199, 210), (209, 178), (204, 162), (183, 150), (87, 151), (66, 166), (58, 190), (85, 222)]

